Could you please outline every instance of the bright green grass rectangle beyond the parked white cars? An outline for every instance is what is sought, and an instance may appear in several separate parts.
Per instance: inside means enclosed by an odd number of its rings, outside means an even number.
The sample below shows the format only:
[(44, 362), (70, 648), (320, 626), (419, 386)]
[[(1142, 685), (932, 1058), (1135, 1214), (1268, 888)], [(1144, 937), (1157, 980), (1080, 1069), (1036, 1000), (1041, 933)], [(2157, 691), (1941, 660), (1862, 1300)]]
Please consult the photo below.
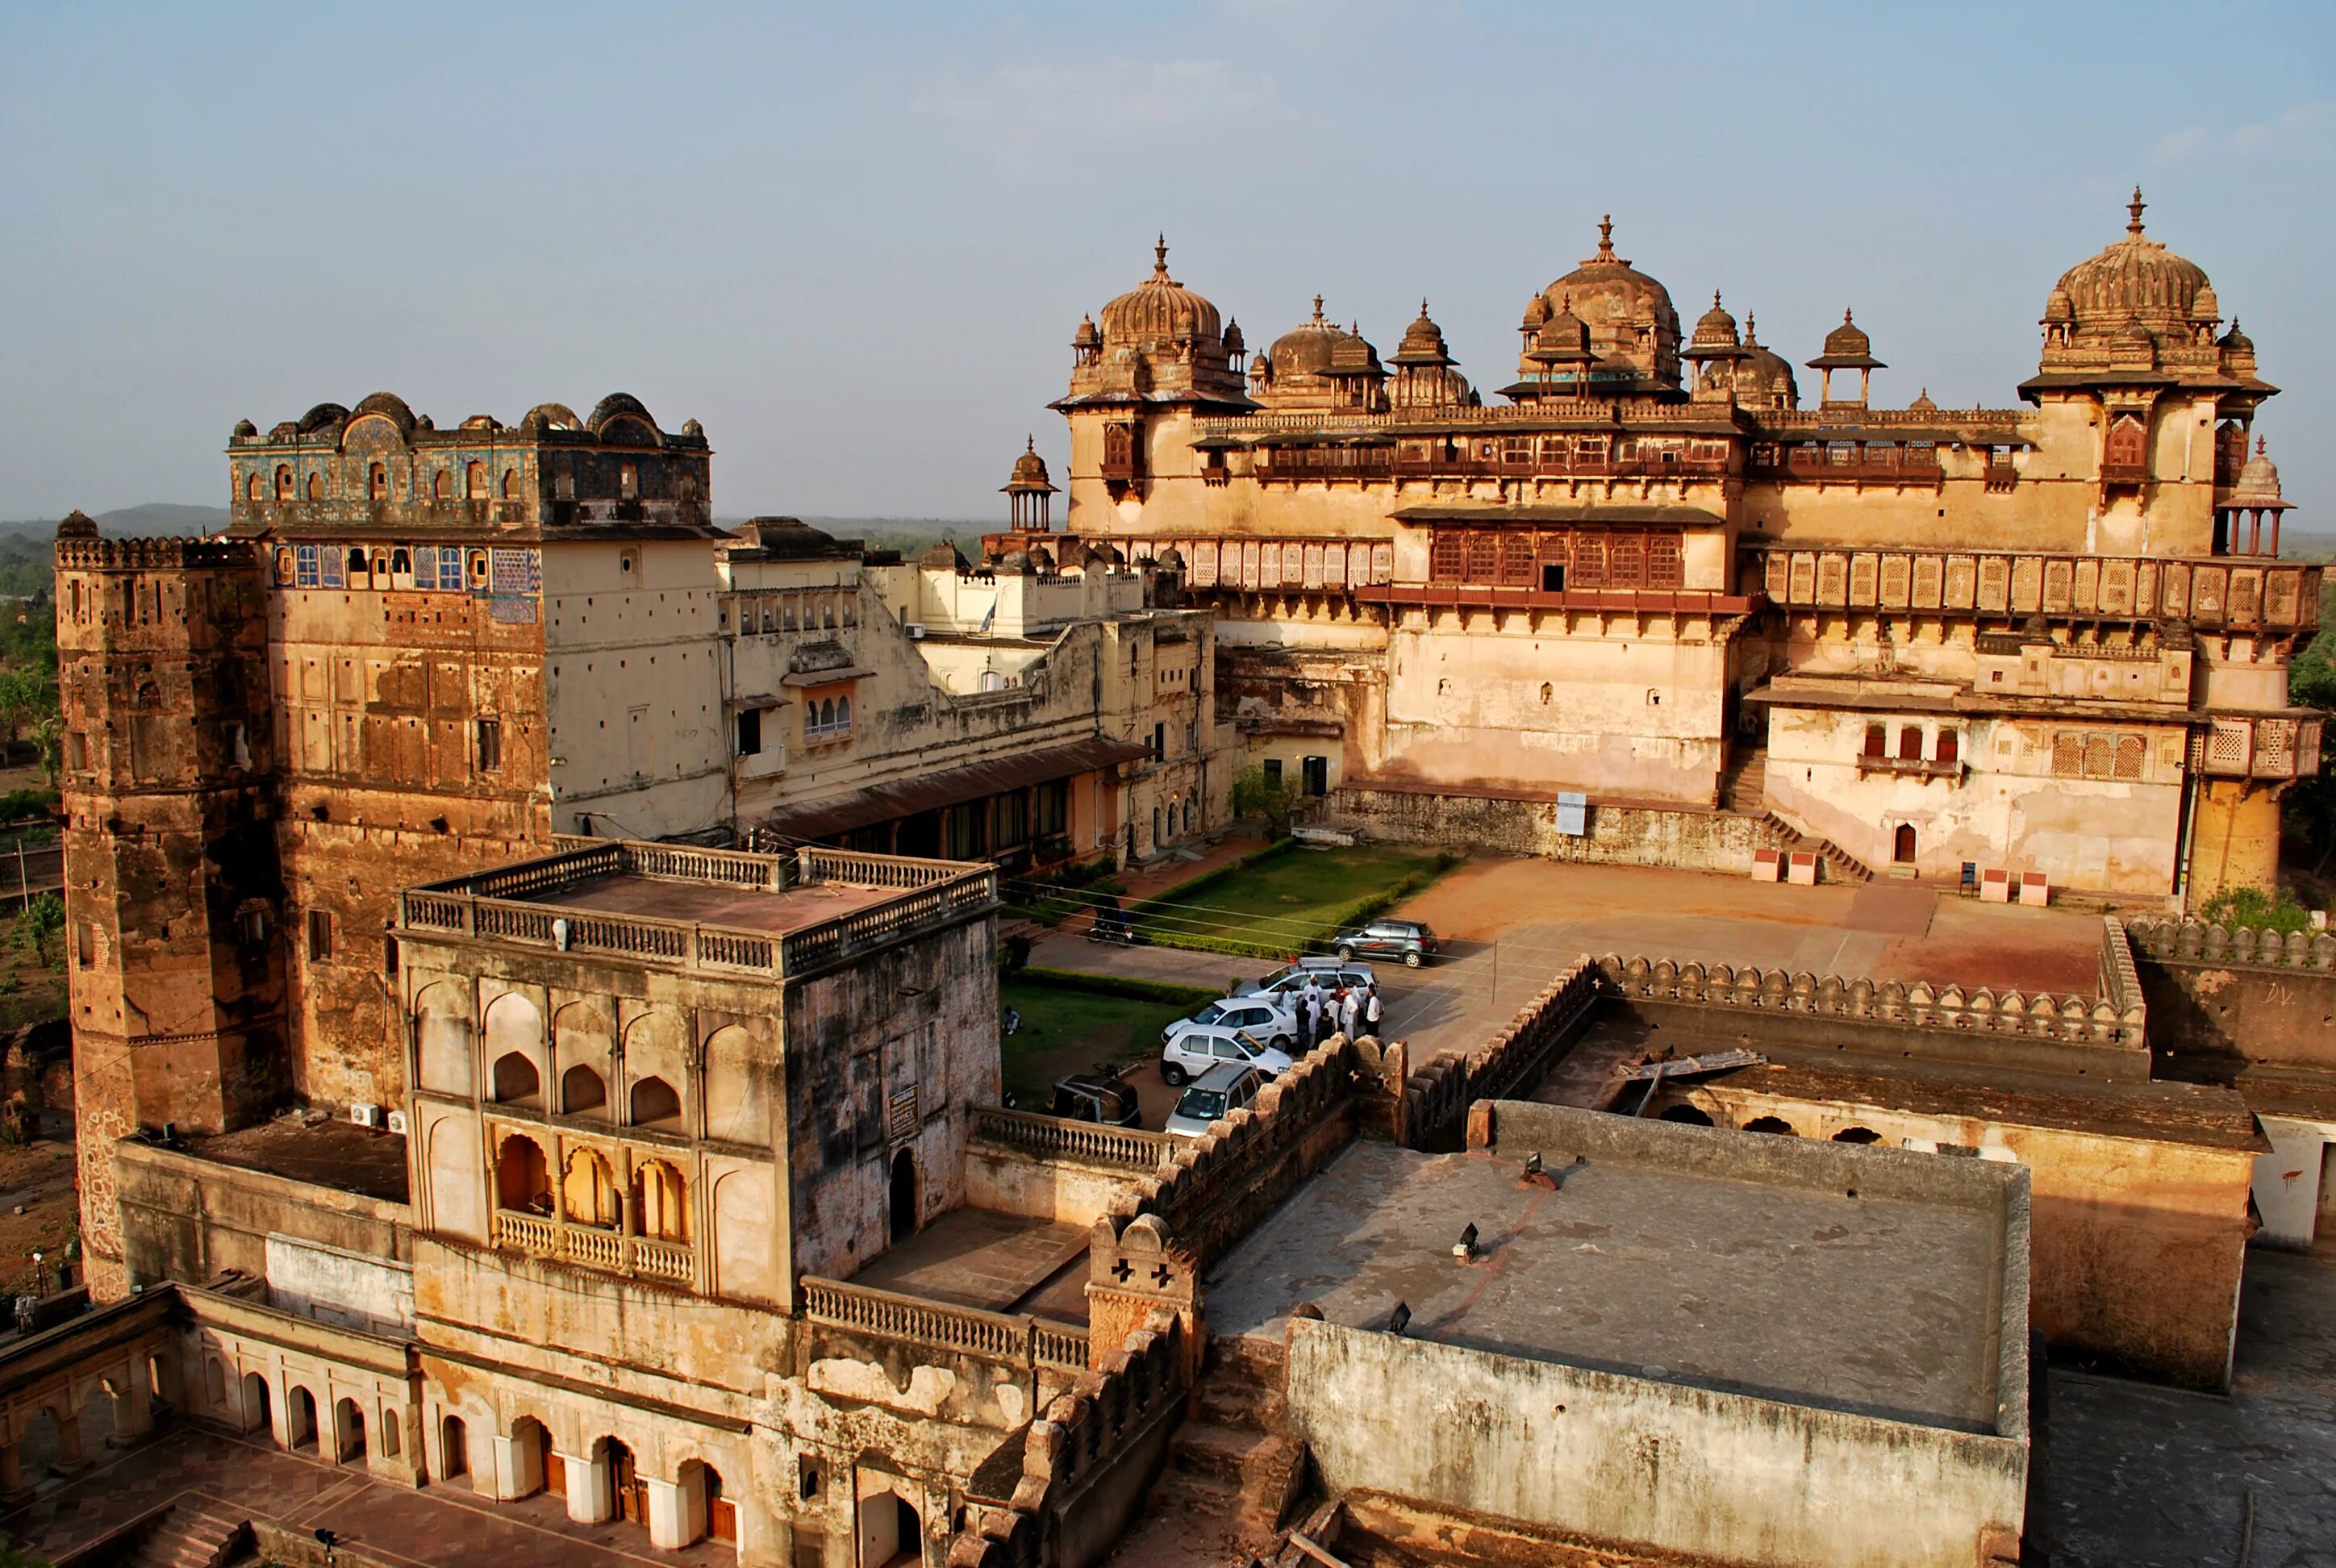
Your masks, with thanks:
[(1140, 921), (1170, 944), (1175, 937), (1229, 937), (1299, 951), (1362, 900), (1392, 893), (1406, 879), (1425, 886), (1448, 865), (1448, 855), (1406, 844), (1294, 848), (1222, 881), (1170, 888)]

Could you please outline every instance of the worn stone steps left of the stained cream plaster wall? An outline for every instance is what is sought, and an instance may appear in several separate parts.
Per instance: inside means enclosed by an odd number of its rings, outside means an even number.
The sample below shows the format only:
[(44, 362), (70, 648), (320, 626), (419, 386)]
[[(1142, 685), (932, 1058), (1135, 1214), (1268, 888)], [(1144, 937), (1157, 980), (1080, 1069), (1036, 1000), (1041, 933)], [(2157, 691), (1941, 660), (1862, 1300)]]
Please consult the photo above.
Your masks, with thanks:
[(1306, 1472), (1306, 1449), (1273, 1430), (1285, 1411), (1282, 1376), (1280, 1344), (1210, 1344), (1191, 1414), (1168, 1442), (1168, 1468), (1145, 1510), (1149, 1521), (1180, 1521), (1177, 1531), (1208, 1542), (1215, 1561), (1247, 1561), (1280, 1545)]

